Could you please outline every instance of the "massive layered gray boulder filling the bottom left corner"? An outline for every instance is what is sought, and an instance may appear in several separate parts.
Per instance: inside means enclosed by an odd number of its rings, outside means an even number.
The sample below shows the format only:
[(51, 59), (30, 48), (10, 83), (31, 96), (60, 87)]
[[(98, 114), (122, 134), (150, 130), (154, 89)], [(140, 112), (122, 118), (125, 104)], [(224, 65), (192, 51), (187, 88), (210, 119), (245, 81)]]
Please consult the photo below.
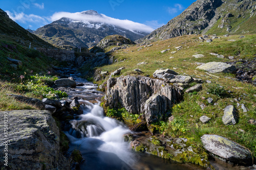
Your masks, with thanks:
[[(8, 166), (11, 169), (70, 169), (59, 147), (59, 129), (46, 110), (8, 112)], [(0, 112), (4, 120), (4, 112)], [(4, 129), (1, 124), (1, 129)], [(0, 134), (0, 154), (4, 155), (4, 133)], [(1, 162), (3, 157), (0, 158)], [(4, 168), (3, 164), (0, 165)]]

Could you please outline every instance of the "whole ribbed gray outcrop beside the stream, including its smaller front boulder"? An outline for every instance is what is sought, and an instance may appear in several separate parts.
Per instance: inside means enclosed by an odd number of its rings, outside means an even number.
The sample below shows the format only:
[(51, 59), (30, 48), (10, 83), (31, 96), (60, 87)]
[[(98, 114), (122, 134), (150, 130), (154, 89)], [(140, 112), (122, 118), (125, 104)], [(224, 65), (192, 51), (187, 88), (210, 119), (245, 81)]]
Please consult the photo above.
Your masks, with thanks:
[[(105, 106), (144, 113), (148, 123), (164, 118), (167, 109), (182, 99), (181, 90), (164, 81), (148, 77), (125, 76), (107, 81)], [(160, 109), (160, 110), (159, 110)]]

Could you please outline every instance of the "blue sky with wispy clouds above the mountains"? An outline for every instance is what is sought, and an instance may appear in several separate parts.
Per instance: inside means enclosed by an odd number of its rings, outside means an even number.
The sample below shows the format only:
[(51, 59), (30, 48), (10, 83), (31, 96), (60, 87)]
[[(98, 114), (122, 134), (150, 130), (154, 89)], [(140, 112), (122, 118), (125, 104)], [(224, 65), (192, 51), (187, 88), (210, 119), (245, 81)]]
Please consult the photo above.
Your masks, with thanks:
[(0, 0), (0, 8), (6, 11), (13, 20), (25, 29), (36, 30), (51, 23), (57, 17), (60, 17), (63, 12), (72, 14), (86, 10), (95, 10), (111, 18), (143, 23), (153, 30), (165, 25), (170, 19), (179, 15), (195, 1)]

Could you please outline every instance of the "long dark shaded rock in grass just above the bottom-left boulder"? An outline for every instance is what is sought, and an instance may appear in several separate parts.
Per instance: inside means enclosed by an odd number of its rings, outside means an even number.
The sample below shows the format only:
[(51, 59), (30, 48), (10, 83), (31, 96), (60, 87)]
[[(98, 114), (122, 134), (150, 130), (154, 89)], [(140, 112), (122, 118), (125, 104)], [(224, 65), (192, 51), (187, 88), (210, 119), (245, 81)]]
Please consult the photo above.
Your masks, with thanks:
[(27, 104), (31, 104), (31, 105), (34, 105), (36, 106), (38, 109), (41, 109), (41, 110), (44, 110), (45, 109), (45, 104), (40, 101), (39, 99), (34, 99), (34, 98), (27, 98), (25, 96), (22, 96), (22, 95), (16, 95), (16, 94), (6, 94), (6, 95), (9, 95), (11, 96), (12, 98), (20, 101), (20, 102), (24, 102), (24, 103), (27, 103)]

